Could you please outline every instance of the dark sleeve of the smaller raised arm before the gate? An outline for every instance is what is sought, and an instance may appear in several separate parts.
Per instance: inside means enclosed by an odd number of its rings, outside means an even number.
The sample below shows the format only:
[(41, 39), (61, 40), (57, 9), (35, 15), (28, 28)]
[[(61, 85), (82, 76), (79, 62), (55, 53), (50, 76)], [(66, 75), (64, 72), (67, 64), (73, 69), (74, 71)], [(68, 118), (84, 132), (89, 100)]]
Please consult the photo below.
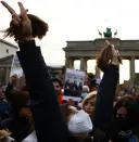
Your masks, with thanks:
[[(109, 65), (98, 89), (93, 125), (105, 130), (113, 116), (113, 98), (118, 80), (118, 67)], [(103, 113), (102, 113), (103, 112)]]

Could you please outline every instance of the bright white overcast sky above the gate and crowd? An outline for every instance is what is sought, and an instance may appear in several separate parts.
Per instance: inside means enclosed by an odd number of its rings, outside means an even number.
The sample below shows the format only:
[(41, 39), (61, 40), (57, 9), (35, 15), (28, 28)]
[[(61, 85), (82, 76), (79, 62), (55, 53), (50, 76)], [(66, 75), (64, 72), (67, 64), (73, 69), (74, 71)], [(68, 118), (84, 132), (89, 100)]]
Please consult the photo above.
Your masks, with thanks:
[[(18, 12), (17, 0), (5, 0)], [(21, 0), (25, 8), (49, 24), (41, 41), (46, 62), (64, 64), (62, 48), (67, 40), (93, 40), (98, 29), (117, 29), (117, 38), (139, 39), (138, 0)], [(9, 26), (10, 13), (0, 5), (0, 29)], [(9, 40), (9, 39), (8, 39)], [(11, 41), (11, 40), (10, 40)], [(12, 41), (13, 42), (13, 41)]]

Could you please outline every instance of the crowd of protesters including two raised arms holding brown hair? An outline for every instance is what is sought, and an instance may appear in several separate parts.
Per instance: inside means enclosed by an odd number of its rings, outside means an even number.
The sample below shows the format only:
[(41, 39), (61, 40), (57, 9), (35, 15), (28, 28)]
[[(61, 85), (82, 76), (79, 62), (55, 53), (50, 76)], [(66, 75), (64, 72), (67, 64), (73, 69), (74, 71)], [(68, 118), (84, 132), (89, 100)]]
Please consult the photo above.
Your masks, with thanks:
[(118, 86), (121, 54), (106, 41), (97, 59), (104, 73), (100, 83), (88, 76), (81, 101), (63, 100), (63, 83), (51, 78), (35, 38), (41, 39), (48, 24), (21, 14), (1, 3), (12, 15), (5, 36), (14, 37), (24, 76), (10, 78), (0, 86), (0, 142), (138, 142), (139, 98), (129, 81)]

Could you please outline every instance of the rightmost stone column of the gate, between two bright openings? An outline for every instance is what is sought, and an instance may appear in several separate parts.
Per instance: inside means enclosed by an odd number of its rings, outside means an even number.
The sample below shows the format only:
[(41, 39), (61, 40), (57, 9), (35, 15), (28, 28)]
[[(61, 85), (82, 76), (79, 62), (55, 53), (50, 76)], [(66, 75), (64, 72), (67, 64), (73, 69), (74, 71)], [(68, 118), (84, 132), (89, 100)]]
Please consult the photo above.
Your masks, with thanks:
[(135, 79), (135, 56), (130, 57), (130, 82), (134, 86)]

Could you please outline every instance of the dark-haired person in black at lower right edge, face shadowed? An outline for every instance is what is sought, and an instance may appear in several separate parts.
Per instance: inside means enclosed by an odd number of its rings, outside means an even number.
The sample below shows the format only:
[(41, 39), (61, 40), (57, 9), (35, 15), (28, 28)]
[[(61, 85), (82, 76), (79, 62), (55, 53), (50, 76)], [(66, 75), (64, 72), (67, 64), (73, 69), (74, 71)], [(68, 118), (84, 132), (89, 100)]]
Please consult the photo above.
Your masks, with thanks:
[(139, 101), (126, 95), (114, 106), (114, 120), (110, 127), (110, 138), (113, 142), (127, 142), (132, 135), (139, 134)]

